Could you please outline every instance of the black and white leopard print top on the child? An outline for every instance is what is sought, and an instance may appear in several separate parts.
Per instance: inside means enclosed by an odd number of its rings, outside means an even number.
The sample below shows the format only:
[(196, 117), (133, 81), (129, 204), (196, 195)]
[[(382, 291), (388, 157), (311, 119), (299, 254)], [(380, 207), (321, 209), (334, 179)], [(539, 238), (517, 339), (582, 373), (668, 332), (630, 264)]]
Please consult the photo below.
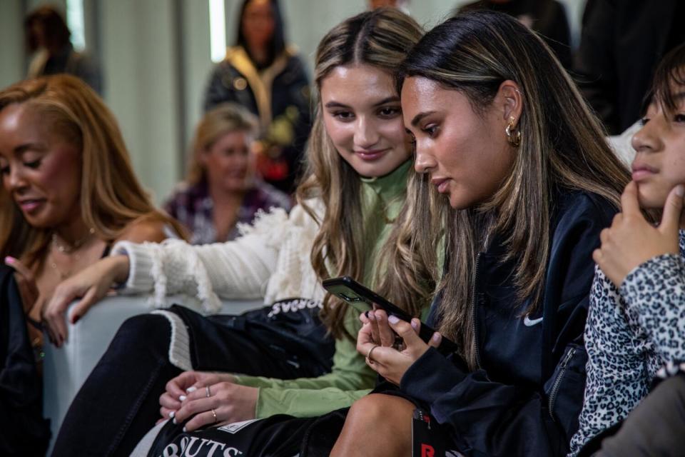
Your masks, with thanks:
[(685, 360), (685, 231), (680, 256), (642, 263), (617, 289), (595, 269), (585, 327), (587, 385), (571, 453), (622, 421), (661, 367)]

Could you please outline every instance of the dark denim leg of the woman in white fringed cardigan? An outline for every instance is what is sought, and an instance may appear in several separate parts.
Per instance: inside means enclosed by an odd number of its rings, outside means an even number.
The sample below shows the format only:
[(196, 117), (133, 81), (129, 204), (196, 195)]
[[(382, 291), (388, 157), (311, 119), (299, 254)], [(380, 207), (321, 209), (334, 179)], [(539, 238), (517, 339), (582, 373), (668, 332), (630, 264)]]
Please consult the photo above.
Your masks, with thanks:
[(76, 394), (53, 456), (128, 456), (159, 418), (159, 396), (181, 370), (168, 361), (171, 326), (145, 314), (124, 322)]

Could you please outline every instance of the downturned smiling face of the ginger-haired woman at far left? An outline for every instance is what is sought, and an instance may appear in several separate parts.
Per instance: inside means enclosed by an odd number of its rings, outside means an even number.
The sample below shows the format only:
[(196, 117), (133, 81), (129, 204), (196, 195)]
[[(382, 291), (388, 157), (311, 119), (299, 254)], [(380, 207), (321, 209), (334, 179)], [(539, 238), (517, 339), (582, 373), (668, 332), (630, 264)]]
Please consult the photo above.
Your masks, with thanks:
[(31, 226), (56, 227), (78, 217), (81, 151), (29, 104), (0, 111), (0, 170), (4, 189)]

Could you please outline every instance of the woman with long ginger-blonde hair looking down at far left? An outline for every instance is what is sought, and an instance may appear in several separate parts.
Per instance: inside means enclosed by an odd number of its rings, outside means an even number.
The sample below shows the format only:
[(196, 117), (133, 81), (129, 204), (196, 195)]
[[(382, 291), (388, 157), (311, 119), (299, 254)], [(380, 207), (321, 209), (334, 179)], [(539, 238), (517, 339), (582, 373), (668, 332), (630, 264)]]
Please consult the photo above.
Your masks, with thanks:
[[(164, 226), (181, 229), (155, 209), (138, 183), (111, 111), (74, 76), (30, 79), (0, 91), (0, 171), (0, 254), (16, 271), (21, 292), (21, 303), (1, 300), (3, 312), (26, 313), (27, 344), (40, 367), (44, 303), (61, 281), (106, 256), (116, 241), (161, 241)], [(11, 271), (3, 266), (0, 273), (6, 278)], [(5, 315), (4, 324), (9, 318), (14, 326), (8, 331), (18, 331), (24, 323), (9, 316), (24, 313)], [(64, 326), (64, 318), (58, 318)], [(3, 443), (24, 439), (30, 446), (46, 445), (42, 438), (30, 438), (30, 427), (22, 420), (31, 411), (29, 386), (41, 398), (39, 378), (34, 368), (19, 368), (22, 361), (16, 354), (9, 355), (21, 341), (5, 337), (0, 331), (0, 377), (5, 380), (0, 403), (12, 419)], [(28, 362), (24, 359), (26, 366)], [(26, 403), (17, 403), (16, 397)], [(39, 404), (38, 416), (40, 411)], [(15, 426), (24, 428), (14, 433)], [(0, 446), (0, 453), (34, 451)]]

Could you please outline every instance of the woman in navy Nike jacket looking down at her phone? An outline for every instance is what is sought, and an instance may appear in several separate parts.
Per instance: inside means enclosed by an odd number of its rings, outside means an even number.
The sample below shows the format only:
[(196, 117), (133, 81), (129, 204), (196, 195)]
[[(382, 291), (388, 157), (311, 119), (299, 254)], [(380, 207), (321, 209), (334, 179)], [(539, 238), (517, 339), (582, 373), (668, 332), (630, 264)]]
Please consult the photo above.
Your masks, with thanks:
[[(360, 316), (357, 351), (399, 389), (385, 383), (355, 402), (331, 455), (360, 442), (367, 454), (357, 456), (410, 455), (417, 406), (447, 450), (562, 455), (583, 401), (592, 251), (628, 172), (543, 41), (504, 14), (475, 11), (429, 31), (399, 86), (415, 169), (429, 175), (415, 196), (424, 211), (406, 229), (419, 246), (446, 238), (428, 319), (440, 333), (427, 344), (416, 319)], [(432, 348), (442, 336), (459, 353)]]

